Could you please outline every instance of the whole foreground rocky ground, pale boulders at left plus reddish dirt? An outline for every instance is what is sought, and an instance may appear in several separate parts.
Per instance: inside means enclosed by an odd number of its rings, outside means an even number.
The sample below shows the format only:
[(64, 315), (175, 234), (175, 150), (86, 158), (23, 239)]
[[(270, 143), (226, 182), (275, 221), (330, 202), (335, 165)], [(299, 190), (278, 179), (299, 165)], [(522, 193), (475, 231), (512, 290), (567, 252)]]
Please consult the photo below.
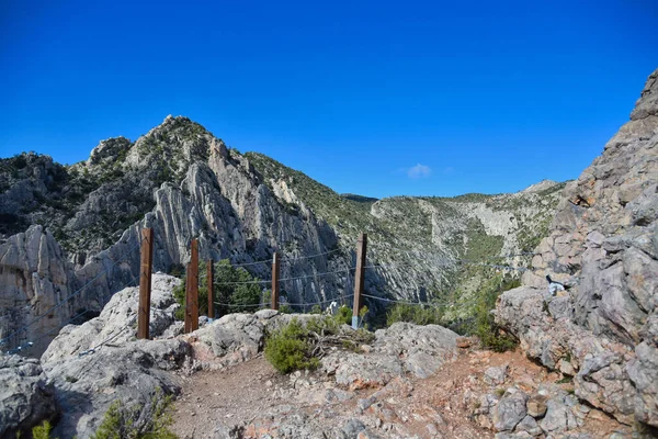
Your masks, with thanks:
[(436, 325), (397, 323), (356, 351), (329, 349), (314, 372), (283, 375), (263, 358), (265, 334), (317, 316), (230, 314), (182, 335), (171, 295), (178, 282), (154, 275), (154, 340), (135, 339), (131, 288), (99, 317), (67, 326), (41, 361), (0, 358), (0, 436), (54, 418), (56, 436), (88, 438), (113, 402), (136, 410), (139, 425), (161, 395), (174, 397), (172, 428), (182, 438), (632, 435), (579, 401), (567, 374), (521, 352), (479, 350)]

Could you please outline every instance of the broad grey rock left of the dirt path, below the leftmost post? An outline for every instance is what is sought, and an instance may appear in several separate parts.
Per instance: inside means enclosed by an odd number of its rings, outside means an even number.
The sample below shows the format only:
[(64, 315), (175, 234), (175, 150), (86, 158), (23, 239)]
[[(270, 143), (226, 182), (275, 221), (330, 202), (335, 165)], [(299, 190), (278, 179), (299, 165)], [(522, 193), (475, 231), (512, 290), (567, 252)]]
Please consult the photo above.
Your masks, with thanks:
[(152, 416), (157, 395), (179, 393), (166, 371), (179, 368), (189, 354), (190, 347), (181, 340), (139, 340), (44, 363), (61, 410), (54, 436), (90, 437), (115, 401), (138, 412), (135, 426), (139, 428)]

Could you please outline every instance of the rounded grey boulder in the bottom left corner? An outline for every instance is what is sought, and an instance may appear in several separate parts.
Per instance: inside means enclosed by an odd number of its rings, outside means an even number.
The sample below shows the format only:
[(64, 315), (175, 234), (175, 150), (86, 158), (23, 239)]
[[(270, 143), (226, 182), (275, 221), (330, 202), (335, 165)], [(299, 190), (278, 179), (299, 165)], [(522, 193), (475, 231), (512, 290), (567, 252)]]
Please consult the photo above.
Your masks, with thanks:
[(57, 413), (38, 361), (0, 356), (0, 437), (14, 437)]

